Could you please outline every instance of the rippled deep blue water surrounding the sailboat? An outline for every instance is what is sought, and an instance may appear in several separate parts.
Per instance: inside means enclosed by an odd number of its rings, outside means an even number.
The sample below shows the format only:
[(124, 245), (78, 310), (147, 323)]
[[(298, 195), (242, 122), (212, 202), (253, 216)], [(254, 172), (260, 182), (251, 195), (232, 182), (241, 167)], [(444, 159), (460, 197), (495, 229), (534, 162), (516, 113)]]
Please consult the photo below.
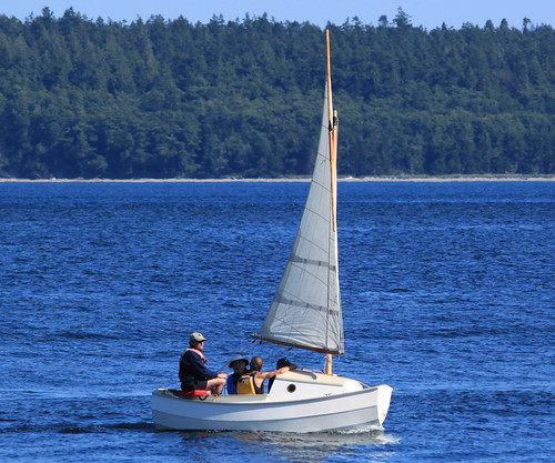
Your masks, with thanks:
[(555, 182), (340, 184), (334, 372), (394, 387), (383, 431), (153, 430), (191, 331), (219, 369), (260, 328), (307, 188), (0, 183), (0, 461), (554, 461)]

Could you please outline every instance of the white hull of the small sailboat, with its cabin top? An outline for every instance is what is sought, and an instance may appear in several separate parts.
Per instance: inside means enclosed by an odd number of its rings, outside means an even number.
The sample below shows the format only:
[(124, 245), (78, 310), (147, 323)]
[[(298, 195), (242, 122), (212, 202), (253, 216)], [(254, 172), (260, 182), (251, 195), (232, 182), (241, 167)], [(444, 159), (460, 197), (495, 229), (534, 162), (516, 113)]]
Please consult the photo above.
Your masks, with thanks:
[[(307, 390), (316, 391), (322, 389), (322, 384), (311, 387), (314, 384), (307, 384), (303, 378), (296, 382), (294, 373), (286, 375), (289, 379), (282, 380), (282, 385), (286, 383), (290, 389), (292, 384), (296, 386), (297, 394), (290, 393), (291, 397), (284, 396), (283, 387), (280, 390), (278, 384), (273, 387), (278, 386), (275, 394), (220, 395), (205, 400), (183, 399), (159, 389), (152, 394), (154, 425), (169, 430), (309, 433), (380, 426), (385, 420), (392, 392), (387, 385), (363, 389), (359, 382), (344, 379), (359, 384), (361, 389), (354, 392), (324, 392), (320, 396), (306, 397)], [(327, 390), (330, 387), (344, 389), (327, 384)], [(346, 389), (350, 387), (352, 384)]]

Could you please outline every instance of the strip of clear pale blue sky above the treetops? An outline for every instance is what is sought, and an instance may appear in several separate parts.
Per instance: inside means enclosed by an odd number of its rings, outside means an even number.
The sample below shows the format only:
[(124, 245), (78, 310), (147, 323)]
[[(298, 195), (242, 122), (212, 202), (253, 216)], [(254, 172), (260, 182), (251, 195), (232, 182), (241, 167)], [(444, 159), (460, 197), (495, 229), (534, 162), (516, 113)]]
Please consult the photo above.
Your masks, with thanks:
[(56, 17), (73, 7), (89, 19), (143, 20), (152, 14), (165, 19), (183, 16), (191, 22), (210, 21), (222, 14), (224, 20), (242, 20), (245, 13), (261, 16), (266, 12), (276, 21), (309, 21), (324, 28), (327, 21), (342, 24), (346, 18), (359, 17), (365, 24), (377, 24), (385, 14), (391, 21), (401, 7), (412, 18), (414, 26), (427, 30), (441, 27), (460, 29), (464, 22), (483, 27), (491, 19), (500, 26), (502, 19), (509, 27), (521, 29), (524, 18), (533, 24), (555, 27), (555, 0), (0, 0), (0, 14), (21, 20), (41, 14), (49, 7)]

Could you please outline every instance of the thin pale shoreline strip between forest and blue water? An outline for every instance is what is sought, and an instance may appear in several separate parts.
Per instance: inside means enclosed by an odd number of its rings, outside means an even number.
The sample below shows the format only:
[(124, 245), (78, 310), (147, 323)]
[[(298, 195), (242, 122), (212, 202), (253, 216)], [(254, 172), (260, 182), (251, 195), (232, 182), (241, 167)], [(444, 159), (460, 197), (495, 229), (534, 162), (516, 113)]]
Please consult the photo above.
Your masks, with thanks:
[[(0, 178), (0, 183), (280, 183), (309, 182), (309, 177), (279, 178), (279, 179), (11, 179)], [(553, 182), (555, 175), (454, 175), (454, 177), (340, 177), (340, 182)]]

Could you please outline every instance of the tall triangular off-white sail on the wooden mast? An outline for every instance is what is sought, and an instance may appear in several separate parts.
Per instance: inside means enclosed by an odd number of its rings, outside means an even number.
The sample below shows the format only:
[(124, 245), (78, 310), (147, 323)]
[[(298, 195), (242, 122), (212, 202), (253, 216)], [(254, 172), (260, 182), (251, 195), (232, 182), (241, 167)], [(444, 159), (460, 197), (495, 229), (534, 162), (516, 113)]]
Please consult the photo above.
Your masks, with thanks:
[[(330, 155), (331, 92), (324, 93), (319, 149), (309, 198), (285, 272), (255, 338), (343, 354), (343, 319), (334, 230), (335, 178)], [(335, 177), (335, 175), (333, 175)]]

